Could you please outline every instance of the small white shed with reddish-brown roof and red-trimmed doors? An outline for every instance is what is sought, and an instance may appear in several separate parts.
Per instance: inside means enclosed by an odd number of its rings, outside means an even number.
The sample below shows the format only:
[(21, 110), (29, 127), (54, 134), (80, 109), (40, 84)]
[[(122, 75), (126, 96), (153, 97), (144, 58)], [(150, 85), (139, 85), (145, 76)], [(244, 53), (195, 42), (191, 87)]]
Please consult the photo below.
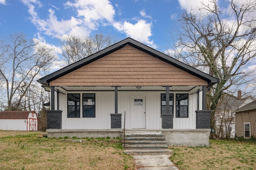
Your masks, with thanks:
[(35, 111), (0, 112), (0, 130), (37, 131), (38, 117)]

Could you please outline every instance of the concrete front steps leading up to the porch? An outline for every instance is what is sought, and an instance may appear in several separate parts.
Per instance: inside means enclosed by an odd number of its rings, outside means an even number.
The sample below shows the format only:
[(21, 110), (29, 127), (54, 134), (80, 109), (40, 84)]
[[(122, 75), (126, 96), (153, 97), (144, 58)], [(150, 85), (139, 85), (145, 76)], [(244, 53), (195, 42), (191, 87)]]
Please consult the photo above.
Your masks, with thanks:
[(125, 141), (126, 154), (172, 154), (160, 131), (126, 131), (125, 140), (122, 135), (123, 147)]

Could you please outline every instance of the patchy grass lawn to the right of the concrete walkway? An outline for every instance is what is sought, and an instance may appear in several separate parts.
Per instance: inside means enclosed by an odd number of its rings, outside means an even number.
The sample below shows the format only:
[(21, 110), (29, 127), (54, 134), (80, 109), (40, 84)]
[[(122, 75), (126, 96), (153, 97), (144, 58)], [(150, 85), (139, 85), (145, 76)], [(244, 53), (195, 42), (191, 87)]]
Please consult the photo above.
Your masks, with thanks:
[(255, 170), (256, 143), (210, 140), (209, 147), (169, 147), (179, 170)]

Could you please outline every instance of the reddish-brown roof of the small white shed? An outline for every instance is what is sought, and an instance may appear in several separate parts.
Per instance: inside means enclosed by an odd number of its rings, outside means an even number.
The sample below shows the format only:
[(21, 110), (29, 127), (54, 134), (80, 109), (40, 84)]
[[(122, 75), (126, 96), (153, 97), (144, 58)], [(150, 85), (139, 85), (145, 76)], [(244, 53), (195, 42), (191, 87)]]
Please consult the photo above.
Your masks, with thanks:
[(0, 119), (27, 119), (31, 112), (34, 111), (2, 111)]

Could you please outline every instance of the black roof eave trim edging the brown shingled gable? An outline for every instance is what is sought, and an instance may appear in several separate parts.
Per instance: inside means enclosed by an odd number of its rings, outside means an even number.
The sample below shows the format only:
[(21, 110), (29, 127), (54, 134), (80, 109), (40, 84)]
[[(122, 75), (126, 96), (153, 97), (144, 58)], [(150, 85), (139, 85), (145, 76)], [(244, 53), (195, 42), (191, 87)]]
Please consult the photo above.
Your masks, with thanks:
[(47, 76), (44, 76), (43, 78), (40, 78), (38, 80), (39, 83), (43, 84), (44, 86), (49, 86), (49, 83), (52, 80), (55, 80), (56, 78), (59, 78), (69, 72), (72, 72), (81, 66), (84, 66), (86, 64), (89, 64), (93, 61), (96, 61), (97, 59), (100, 59), (101, 57), (104, 57), (105, 55), (108, 55), (114, 51), (117, 51), (118, 49), (121, 49), (125, 47), (126, 45), (131, 45), (132, 47), (135, 47), (141, 51), (144, 51), (145, 53), (148, 53), (158, 59), (161, 59), (162, 61), (165, 61), (167, 63), (170, 63), (178, 68), (182, 68), (182, 70), (185, 70), (187, 72), (190, 72), (191, 74), (198, 76), (199, 78), (202, 78), (203, 80), (206, 80), (208, 82), (208, 88), (212, 85), (218, 83), (218, 79), (210, 76), (209, 74), (206, 74), (200, 70), (197, 70), (196, 68), (193, 68), (192, 66), (189, 66), (187, 64), (184, 64), (164, 53), (161, 53), (160, 51), (157, 51), (156, 49), (153, 49), (147, 45), (144, 45), (134, 39), (126, 38), (114, 45), (111, 45), (110, 47), (107, 47), (106, 49), (103, 49), (101, 51), (98, 51), (97, 53), (94, 53), (80, 61), (77, 61), (76, 63), (70, 64), (64, 68), (61, 68), (60, 70), (57, 70)]

